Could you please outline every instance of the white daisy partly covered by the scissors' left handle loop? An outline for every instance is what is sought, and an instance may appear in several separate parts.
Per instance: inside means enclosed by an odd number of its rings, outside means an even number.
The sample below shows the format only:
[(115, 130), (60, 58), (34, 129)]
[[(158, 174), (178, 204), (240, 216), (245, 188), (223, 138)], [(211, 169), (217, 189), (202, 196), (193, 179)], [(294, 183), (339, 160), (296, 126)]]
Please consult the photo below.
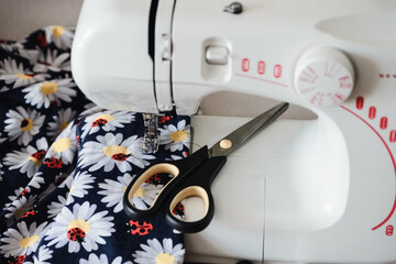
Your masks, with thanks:
[[(98, 191), (99, 195), (105, 196), (101, 201), (107, 204), (107, 207), (114, 207), (114, 212), (120, 212), (123, 209), (122, 200), (123, 195), (128, 185), (135, 177), (130, 174), (124, 174), (123, 176), (117, 177), (117, 180), (105, 179), (106, 183), (100, 183), (99, 188), (102, 190)], [(143, 184), (136, 194), (133, 195), (131, 204), (138, 209), (147, 209), (151, 205), (153, 205), (154, 199), (158, 196), (162, 190), (163, 185), (150, 185)]]

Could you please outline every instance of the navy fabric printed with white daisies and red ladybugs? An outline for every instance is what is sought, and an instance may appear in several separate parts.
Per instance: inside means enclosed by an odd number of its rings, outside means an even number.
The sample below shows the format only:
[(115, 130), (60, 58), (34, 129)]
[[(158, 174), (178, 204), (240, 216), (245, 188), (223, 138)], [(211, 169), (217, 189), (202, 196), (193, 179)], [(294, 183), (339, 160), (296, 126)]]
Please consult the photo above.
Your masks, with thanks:
[[(73, 29), (0, 44), (0, 263), (183, 263), (183, 234), (163, 215), (139, 222), (122, 197), (156, 161), (187, 155), (189, 118), (160, 119), (160, 151), (142, 153), (141, 113), (96, 107), (70, 72)], [(146, 208), (168, 176), (141, 186)]]

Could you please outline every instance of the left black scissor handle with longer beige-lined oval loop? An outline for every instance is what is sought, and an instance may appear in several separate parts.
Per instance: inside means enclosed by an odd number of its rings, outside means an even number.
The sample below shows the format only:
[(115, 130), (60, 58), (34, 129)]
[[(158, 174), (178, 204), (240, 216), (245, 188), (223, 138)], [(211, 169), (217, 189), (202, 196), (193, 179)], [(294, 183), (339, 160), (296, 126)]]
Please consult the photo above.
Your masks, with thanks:
[[(123, 196), (123, 208), (128, 217), (138, 221), (147, 221), (154, 219), (156, 213), (161, 210), (162, 206), (168, 200), (169, 195), (184, 182), (184, 178), (199, 167), (206, 160), (208, 160), (208, 147), (204, 146), (193, 155), (166, 163), (156, 163), (143, 169), (136, 175), (128, 185)], [(145, 210), (134, 207), (131, 202), (133, 195), (136, 190), (148, 179), (151, 176), (158, 173), (167, 173), (174, 177), (162, 188), (153, 205)]]

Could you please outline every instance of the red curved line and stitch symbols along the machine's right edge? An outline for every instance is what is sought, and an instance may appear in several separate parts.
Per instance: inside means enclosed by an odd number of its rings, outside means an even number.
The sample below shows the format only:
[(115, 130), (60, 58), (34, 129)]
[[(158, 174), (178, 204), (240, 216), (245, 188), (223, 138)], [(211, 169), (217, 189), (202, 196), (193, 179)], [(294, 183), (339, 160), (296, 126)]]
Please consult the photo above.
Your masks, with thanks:
[[(381, 75), (380, 75), (381, 77)], [(387, 77), (385, 76), (386, 78), (391, 78), (391, 77)], [(396, 77), (395, 77), (396, 78)], [(358, 97), (356, 98), (356, 103), (355, 103), (355, 107), (356, 107), (356, 110), (362, 110), (364, 108), (364, 98), (363, 97)], [(387, 140), (385, 140), (378, 132), (377, 129), (375, 129), (372, 124), (370, 124), (366, 119), (360, 114), (358, 114), (356, 112), (354, 112), (353, 110), (346, 108), (346, 107), (343, 107), (341, 106), (341, 108), (343, 108), (344, 110), (346, 110), (348, 112), (352, 113), (353, 116), (355, 116), (356, 118), (359, 118), (361, 121), (363, 121), (371, 130), (373, 130), (375, 132), (375, 134), (380, 138), (380, 140), (383, 142), (384, 146), (386, 147), (388, 154), (389, 154), (389, 157), (392, 160), (392, 163), (393, 163), (393, 167), (394, 167), (394, 172), (395, 172), (395, 177), (396, 177), (396, 162), (395, 162), (395, 157), (388, 146), (388, 143), (395, 143), (396, 142), (396, 130), (389, 130), (389, 136)], [(370, 106), (369, 108), (369, 111), (366, 112), (367, 114), (367, 118), (370, 120), (376, 120), (378, 118), (378, 114), (377, 114), (377, 109), (376, 107), (374, 106)], [(388, 118), (387, 117), (380, 117), (378, 118), (378, 121), (377, 121), (377, 125), (378, 128), (382, 130), (382, 131), (386, 131), (388, 129)], [(381, 131), (380, 130), (380, 131)], [(396, 210), (396, 197), (394, 199), (394, 205), (391, 209), (391, 212), (388, 213), (388, 216), (381, 222), (378, 223), (377, 226), (375, 226), (374, 228), (372, 228), (372, 230), (377, 230), (378, 228), (383, 227), (384, 224), (386, 224), (389, 219), (392, 218), (392, 216), (394, 215)], [(385, 230), (385, 234), (387, 237), (391, 237), (394, 234), (394, 227), (388, 224), (386, 227), (386, 230)]]

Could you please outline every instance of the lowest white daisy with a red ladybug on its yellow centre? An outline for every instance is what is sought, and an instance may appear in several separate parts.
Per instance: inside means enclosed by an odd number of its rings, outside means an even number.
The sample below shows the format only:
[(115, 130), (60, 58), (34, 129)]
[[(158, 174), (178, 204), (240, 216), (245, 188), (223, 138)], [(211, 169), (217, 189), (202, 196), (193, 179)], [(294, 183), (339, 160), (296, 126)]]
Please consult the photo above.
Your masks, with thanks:
[(102, 237), (110, 237), (116, 230), (112, 228), (113, 217), (106, 217), (108, 211), (96, 212), (97, 206), (88, 201), (81, 206), (76, 204), (70, 211), (63, 208), (55, 218), (45, 240), (48, 245), (59, 249), (68, 244), (68, 252), (79, 252), (81, 246), (87, 252), (98, 250), (98, 244), (106, 244)]

